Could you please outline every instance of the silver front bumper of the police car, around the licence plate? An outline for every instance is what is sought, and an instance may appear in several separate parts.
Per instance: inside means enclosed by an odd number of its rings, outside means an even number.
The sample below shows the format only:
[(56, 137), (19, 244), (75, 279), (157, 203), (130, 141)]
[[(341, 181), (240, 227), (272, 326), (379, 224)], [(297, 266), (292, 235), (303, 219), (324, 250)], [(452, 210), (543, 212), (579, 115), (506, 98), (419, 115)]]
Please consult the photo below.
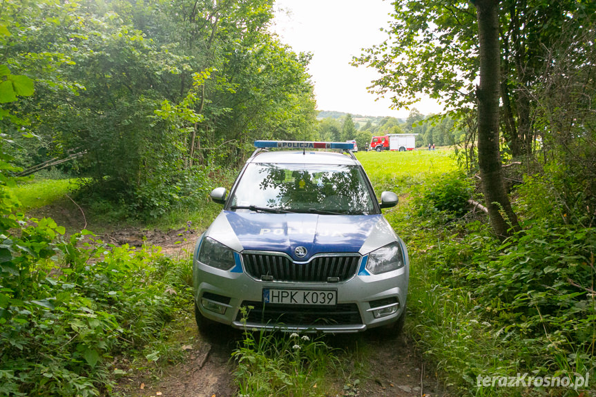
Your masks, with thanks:
[[(400, 318), (407, 296), (408, 265), (381, 275), (359, 271), (345, 282), (265, 282), (251, 278), (241, 263), (222, 271), (198, 262), (195, 256), (193, 277), (195, 302), (210, 320), (238, 329), (349, 333), (390, 325)], [(267, 288), (335, 290), (337, 304), (263, 304), (262, 291)]]

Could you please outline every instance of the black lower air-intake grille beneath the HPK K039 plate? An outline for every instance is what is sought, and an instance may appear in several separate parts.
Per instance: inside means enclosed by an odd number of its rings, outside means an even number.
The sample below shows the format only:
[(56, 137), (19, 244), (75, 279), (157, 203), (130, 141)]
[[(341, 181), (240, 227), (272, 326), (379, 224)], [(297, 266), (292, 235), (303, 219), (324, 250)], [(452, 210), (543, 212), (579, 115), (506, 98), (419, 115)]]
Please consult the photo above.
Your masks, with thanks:
[[(355, 303), (336, 304), (328, 307), (263, 304), (262, 302), (242, 302), (242, 306), (251, 306), (247, 313), (247, 322), (267, 325), (306, 326), (309, 325), (361, 325), (362, 318)], [(237, 321), (242, 320), (238, 311)]]

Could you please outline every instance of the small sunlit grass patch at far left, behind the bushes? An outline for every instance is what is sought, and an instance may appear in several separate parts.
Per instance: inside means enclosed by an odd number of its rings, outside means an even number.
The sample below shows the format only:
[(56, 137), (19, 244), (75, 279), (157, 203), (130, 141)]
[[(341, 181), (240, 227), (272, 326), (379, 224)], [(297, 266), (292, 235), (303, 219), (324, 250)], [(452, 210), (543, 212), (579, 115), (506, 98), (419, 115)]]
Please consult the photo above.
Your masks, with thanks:
[(8, 191), (21, 203), (20, 209), (36, 209), (60, 200), (76, 187), (77, 179), (32, 180), (23, 182)]

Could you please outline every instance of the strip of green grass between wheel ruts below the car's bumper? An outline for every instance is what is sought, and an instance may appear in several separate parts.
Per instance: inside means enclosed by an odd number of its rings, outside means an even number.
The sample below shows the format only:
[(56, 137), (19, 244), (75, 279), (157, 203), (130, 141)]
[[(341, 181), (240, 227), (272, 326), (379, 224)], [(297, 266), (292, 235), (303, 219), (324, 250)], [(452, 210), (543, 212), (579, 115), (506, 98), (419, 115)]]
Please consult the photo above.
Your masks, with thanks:
[(361, 336), (245, 329), (232, 353), (238, 396), (358, 396), (366, 351)]

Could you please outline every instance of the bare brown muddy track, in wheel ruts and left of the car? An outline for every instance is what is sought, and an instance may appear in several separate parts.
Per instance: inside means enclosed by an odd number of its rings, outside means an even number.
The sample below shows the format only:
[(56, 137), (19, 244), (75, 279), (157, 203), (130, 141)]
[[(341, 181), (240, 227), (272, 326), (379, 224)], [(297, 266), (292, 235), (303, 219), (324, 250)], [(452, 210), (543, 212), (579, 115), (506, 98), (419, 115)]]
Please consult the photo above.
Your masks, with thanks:
[[(84, 216), (84, 209), (65, 203), (53, 204), (32, 211), (33, 217), (49, 216), (57, 224), (66, 226), (68, 233), (81, 229), (96, 231), (98, 238), (110, 244), (162, 247), (166, 255), (189, 255), (202, 231), (192, 228), (160, 231), (142, 227), (94, 224)], [(99, 230), (99, 232), (97, 232)], [(218, 328), (212, 333), (200, 333), (193, 319), (186, 319), (185, 332), (178, 336), (185, 358), (177, 365), (166, 367), (160, 374), (147, 371), (131, 374), (120, 380), (117, 392), (126, 396), (147, 397), (235, 397), (238, 388), (234, 383), (234, 364), (231, 353), (240, 341), (240, 331)], [(356, 351), (363, 346), (367, 352), (363, 359), (365, 374), (357, 386), (345, 385), (336, 380), (336, 396), (362, 397), (414, 397), (447, 396), (434, 374), (425, 368), (421, 356), (406, 336), (387, 338), (380, 333), (367, 331), (361, 334), (326, 336), (325, 343), (346, 351)], [(349, 387), (348, 387), (349, 386)], [(265, 397), (265, 396), (251, 396)]]

